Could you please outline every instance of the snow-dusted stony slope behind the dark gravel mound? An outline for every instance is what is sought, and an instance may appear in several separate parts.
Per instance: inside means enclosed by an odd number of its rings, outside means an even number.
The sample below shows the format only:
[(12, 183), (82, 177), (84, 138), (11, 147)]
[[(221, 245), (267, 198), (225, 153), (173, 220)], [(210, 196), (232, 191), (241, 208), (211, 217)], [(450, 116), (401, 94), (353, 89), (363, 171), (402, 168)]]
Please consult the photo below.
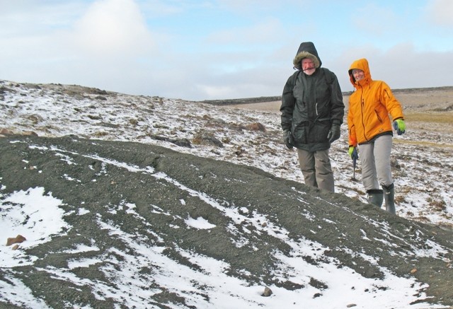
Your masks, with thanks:
[[(4, 82), (0, 129), (35, 132), (40, 136), (78, 135), (91, 139), (158, 144), (183, 153), (255, 166), (286, 179), (304, 182), (297, 153), (282, 144), (280, 115), (167, 98), (79, 93), (79, 87), (35, 89)], [(250, 129), (260, 123), (265, 132)], [(453, 134), (426, 128), (394, 136), (393, 174), (398, 216), (433, 224), (453, 224)], [(448, 125), (448, 124), (445, 124)], [(451, 126), (451, 124), (449, 124)], [(418, 125), (417, 127), (420, 127)], [(451, 131), (450, 131), (451, 132)], [(331, 147), (336, 192), (366, 201), (360, 181), (351, 180), (347, 126)], [(156, 139), (187, 139), (192, 148)], [(213, 143), (195, 144), (200, 136)], [(201, 139), (202, 140), (202, 139)], [(360, 177), (360, 162), (355, 177)]]

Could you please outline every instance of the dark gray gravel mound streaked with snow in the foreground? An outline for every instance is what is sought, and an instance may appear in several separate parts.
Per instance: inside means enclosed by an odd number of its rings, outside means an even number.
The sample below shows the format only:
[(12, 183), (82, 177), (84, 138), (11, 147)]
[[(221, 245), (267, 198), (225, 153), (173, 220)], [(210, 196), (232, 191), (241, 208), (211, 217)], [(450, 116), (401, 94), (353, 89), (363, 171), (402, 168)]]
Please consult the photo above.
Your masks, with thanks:
[[(0, 280), (11, 280), (11, 276), (20, 279), (51, 308), (72, 308), (75, 304), (120, 308), (116, 304), (123, 308), (125, 301), (120, 296), (98, 297), (95, 288), (84, 282), (103, 284), (115, 291), (117, 278), (109, 274), (120, 270), (120, 261), (142, 255), (132, 240), (160, 247), (168, 259), (195, 270), (197, 264), (181, 255), (180, 249), (226, 262), (229, 276), (249, 284), (292, 291), (306, 286), (291, 279), (275, 279), (275, 271), (282, 272), (277, 269), (275, 252), (292, 255), (289, 244), (304, 239), (314, 251), (319, 250), (316, 244), (327, 248), (317, 258), (300, 256), (305, 262), (350, 267), (377, 282), (385, 276), (382, 269), (389, 269), (397, 276), (413, 276), (428, 284), (424, 292), (430, 301), (453, 305), (453, 268), (448, 262), (453, 260), (453, 232), (447, 229), (408, 221), (257, 168), (159, 146), (74, 136), (13, 135), (0, 139), (0, 149), (4, 194), (44, 187), (63, 201), (61, 207), (67, 213), (64, 219), (71, 228), (66, 233), (27, 250), (38, 260), (23, 267), (0, 269)], [(137, 216), (130, 216), (127, 207), (115, 207), (125, 201), (135, 205)], [(89, 211), (84, 216), (79, 215), (82, 207)], [(263, 216), (257, 219), (256, 213)], [(184, 220), (189, 217), (204, 218), (215, 227), (176, 228), (185, 226)], [(113, 235), (106, 225), (114, 226), (117, 233)], [(98, 247), (96, 252), (69, 251), (77, 244), (93, 243)], [(435, 250), (432, 244), (442, 250)], [(428, 251), (435, 254), (423, 254)], [(365, 259), (365, 255), (374, 260)], [(91, 258), (104, 262), (68, 271), (69, 260)], [(113, 271), (106, 272), (108, 267)], [(78, 283), (55, 275), (62, 269), (79, 278)], [(166, 306), (172, 303), (192, 308), (183, 296), (153, 280), (157, 269), (152, 263), (131, 269), (132, 278), (143, 279), (149, 289), (160, 291), (142, 299), (144, 306), (173, 308)], [(309, 285), (318, 291), (314, 297), (328, 288), (316, 277)], [(386, 286), (377, 283), (377, 288)], [(199, 291), (203, 294), (203, 287)], [(20, 308), (3, 302), (0, 307)]]

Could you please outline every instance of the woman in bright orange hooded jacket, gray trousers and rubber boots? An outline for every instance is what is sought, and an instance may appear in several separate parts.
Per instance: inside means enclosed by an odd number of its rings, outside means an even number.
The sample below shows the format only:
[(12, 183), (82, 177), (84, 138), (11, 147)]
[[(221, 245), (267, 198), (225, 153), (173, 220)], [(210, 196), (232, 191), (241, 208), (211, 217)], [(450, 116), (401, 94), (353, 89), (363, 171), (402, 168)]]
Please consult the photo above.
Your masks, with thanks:
[(403, 110), (384, 81), (372, 80), (367, 59), (352, 62), (348, 73), (355, 87), (349, 98), (349, 155), (357, 159), (357, 146), (360, 148), (362, 182), (369, 202), (381, 207), (385, 198), (386, 211), (395, 214), (391, 122), (398, 134), (406, 132)]

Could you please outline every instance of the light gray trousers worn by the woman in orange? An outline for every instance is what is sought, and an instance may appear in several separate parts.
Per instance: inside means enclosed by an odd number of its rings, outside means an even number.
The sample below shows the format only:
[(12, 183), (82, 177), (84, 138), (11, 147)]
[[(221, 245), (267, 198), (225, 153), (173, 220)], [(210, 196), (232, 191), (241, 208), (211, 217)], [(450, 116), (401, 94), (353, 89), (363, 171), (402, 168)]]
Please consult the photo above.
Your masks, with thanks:
[(362, 182), (365, 190), (377, 190), (394, 183), (391, 177), (390, 153), (392, 136), (382, 135), (372, 143), (359, 145)]

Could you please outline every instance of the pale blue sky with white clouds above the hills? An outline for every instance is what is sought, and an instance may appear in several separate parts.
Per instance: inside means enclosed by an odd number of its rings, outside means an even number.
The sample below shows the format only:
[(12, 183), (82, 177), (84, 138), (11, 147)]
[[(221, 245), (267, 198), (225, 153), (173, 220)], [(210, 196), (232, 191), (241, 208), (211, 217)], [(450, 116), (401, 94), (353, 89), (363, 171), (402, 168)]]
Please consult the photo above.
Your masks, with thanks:
[(452, 0), (0, 0), (0, 79), (183, 100), (281, 95), (299, 44), (352, 91), (453, 86)]

